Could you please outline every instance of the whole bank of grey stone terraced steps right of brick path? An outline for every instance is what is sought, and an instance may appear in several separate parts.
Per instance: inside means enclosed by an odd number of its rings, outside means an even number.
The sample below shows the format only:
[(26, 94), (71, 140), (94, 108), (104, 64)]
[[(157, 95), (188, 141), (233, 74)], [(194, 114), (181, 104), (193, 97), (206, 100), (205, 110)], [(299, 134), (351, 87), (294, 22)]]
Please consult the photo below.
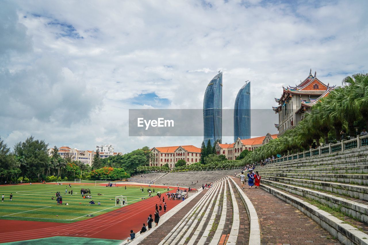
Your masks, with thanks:
[(368, 148), (257, 167), (261, 188), (343, 244), (368, 244)]

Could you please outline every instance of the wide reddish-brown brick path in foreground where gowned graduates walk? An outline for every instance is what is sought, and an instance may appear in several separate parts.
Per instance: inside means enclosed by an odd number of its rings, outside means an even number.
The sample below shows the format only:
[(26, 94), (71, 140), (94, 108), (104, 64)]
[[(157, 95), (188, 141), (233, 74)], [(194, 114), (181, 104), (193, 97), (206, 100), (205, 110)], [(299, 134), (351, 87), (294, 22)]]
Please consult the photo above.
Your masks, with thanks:
[[(240, 186), (240, 181), (234, 178)], [(258, 214), (261, 244), (340, 244), (317, 223), (298, 209), (261, 189), (248, 189), (244, 193)]]

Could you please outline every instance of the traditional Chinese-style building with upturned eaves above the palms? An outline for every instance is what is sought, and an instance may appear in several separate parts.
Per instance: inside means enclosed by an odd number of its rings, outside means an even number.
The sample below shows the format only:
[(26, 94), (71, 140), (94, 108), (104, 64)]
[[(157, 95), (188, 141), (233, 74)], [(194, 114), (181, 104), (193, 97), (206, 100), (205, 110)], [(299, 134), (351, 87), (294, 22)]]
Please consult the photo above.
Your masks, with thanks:
[(322, 83), (316, 76), (316, 72), (314, 76), (312, 75), (311, 69), (304, 81), (300, 81), (299, 85), (283, 87), (282, 96), (279, 99), (275, 98), (279, 106), (272, 109), (279, 114), (279, 123), (275, 124), (279, 130), (278, 136), (294, 128), (304, 119), (305, 112), (310, 113), (313, 105), (335, 89), (335, 86)]

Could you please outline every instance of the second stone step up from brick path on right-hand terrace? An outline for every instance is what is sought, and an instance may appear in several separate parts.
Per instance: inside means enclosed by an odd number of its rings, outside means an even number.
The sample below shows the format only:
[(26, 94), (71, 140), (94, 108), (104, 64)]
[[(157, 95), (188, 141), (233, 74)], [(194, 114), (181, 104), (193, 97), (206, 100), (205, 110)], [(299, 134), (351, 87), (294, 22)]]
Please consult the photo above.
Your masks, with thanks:
[(304, 187), (299, 187), (290, 184), (283, 184), (276, 181), (262, 179), (262, 183), (287, 191), (291, 194), (296, 194), (301, 197), (306, 197), (318, 201), (330, 208), (337, 208), (346, 216), (352, 216), (354, 219), (360, 220), (366, 224), (365, 228), (368, 230), (368, 202), (357, 199), (346, 199), (343, 197), (336, 197), (325, 192), (311, 190)]

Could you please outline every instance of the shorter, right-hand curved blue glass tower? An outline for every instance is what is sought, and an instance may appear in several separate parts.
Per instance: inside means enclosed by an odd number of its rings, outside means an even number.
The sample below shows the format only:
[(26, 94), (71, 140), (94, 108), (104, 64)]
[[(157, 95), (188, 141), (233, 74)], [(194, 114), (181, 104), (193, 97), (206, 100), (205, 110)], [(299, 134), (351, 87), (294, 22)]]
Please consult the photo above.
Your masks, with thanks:
[(251, 83), (245, 83), (238, 92), (234, 105), (234, 142), (237, 138), (251, 137)]

